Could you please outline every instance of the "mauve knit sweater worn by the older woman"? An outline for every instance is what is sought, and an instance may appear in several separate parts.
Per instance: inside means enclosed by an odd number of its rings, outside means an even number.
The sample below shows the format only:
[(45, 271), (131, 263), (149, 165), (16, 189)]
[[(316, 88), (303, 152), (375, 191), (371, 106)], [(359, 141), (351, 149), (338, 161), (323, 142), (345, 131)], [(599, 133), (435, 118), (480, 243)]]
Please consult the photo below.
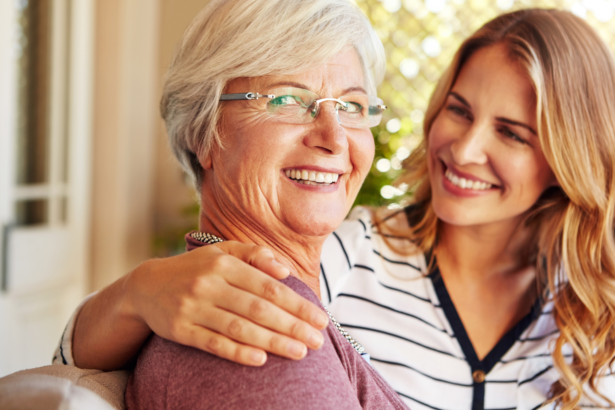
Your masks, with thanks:
[[(186, 235), (188, 251), (205, 245)], [(320, 306), (299, 279), (282, 283)], [(242, 366), (155, 334), (139, 355), (126, 390), (129, 410), (407, 409), (397, 393), (329, 323), (325, 342), (299, 361), (270, 354)]]

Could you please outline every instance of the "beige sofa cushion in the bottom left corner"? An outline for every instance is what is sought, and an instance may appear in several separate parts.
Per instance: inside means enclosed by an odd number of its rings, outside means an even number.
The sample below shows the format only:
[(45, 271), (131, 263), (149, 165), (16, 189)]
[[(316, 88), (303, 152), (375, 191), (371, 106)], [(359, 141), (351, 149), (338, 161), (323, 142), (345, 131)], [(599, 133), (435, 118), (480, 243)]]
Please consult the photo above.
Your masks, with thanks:
[(54, 364), (0, 379), (0, 409), (124, 410), (129, 372), (87, 370)]

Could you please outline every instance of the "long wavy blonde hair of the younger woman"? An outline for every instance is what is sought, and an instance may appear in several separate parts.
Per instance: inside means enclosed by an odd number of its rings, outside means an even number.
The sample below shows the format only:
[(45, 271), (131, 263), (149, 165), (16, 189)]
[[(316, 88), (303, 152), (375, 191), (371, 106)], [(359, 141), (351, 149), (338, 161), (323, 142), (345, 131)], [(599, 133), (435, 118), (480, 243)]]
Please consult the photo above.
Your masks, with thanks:
[[(526, 9), (501, 15), (463, 42), (429, 102), (424, 135), (470, 55), (504, 44), (536, 90), (538, 137), (560, 188), (547, 190), (525, 223), (538, 233), (528, 254), (537, 280), (554, 301), (560, 330), (552, 357), (561, 377), (551, 400), (578, 407), (583, 385), (597, 381), (615, 359), (615, 61), (581, 18), (562, 10)], [(423, 252), (437, 243), (431, 206), (427, 138), (404, 163), (397, 183), (412, 187), (410, 232)], [(565, 360), (562, 347), (573, 350)], [(608, 401), (608, 399), (605, 398)], [(611, 403), (613, 405), (613, 403)]]

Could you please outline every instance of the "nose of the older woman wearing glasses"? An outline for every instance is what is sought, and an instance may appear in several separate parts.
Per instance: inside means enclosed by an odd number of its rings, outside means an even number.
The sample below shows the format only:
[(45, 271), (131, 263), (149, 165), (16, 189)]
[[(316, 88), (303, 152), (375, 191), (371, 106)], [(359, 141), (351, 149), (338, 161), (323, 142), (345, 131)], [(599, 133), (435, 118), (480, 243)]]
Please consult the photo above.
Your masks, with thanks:
[(339, 124), (334, 101), (320, 103), (320, 111), (311, 124), (304, 139), (308, 147), (321, 148), (330, 155), (339, 155), (348, 149), (348, 135)]

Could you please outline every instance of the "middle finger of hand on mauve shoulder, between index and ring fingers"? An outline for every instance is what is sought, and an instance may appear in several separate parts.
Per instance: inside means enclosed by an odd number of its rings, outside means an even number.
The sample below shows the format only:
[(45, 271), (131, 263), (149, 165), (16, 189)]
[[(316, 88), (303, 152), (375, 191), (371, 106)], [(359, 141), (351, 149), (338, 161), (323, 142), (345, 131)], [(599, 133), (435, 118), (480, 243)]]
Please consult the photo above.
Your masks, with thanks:
[[(280, 309), (268, 300), (241, 289), (232, 288), (224, 298), (216, 300), (216, 306), (247, 318), (256, 326), (260, 325), (278, 334), (299, 340), (311, 349), (319, 349), (324, 342), (322, 333), (318, 329)], [(237, 337), (233, 337), (233, 339), (252, 344), (250, 339), (237, 339)]]

